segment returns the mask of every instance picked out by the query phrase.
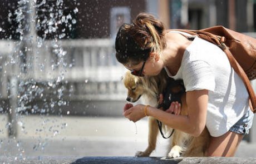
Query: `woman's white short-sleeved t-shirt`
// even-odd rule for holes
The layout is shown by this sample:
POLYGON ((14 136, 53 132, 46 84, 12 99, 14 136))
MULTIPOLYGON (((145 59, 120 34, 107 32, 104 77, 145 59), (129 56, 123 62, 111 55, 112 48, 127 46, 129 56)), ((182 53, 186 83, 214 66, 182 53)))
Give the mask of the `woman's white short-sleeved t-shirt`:
POLYGON ((185 49, 179 71, 186 91, 209 90, 206 127, 218 137, 228 132, 249 110, 249 96, 242 79, 230 66, 226 54, 215 44, 195 37, 185 49))

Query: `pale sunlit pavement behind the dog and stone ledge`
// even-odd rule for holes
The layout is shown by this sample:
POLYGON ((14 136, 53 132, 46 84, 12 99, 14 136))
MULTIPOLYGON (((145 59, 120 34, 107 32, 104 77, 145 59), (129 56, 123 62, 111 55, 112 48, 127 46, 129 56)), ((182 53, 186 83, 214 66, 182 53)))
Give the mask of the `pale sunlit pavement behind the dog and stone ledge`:
MULTIPOLYGON (((12 139, 7 138, 6 119, 0 116, 0 163, 8 159, 14 163, 24 160, 29 163, 29 159, 40 162, 45 158, 51 158, 52 163, 65 159, 85 161, 95 156, 99 160, 106 157, 105 161, 114 157, 142 160, 132 156, 147 146, 146 119, 135 124, 125 118, 111 117, 22 116, 18 121, 18 136, 12 139)), ((151 156, 165 156, 168 145, 168 140, 159 137, 151 156)), ((255 159, 255 152, 256 143, 242 141, 235 157, 255 159)))

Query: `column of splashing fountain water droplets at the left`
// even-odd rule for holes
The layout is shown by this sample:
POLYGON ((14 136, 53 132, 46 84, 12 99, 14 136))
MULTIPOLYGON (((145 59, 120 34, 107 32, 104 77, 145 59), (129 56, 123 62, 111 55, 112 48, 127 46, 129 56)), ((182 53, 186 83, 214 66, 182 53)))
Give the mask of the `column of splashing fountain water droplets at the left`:
MULTIPOLYGON (((11 40, 18 36, 14 40, 13 53, 7 56, 4 66, 1 66, 1 69, 2 67, 8 68, 8 71, 4 71, 4 76, 17 82, 17 85, 7 85, 8 98, 12 101, 8 112, 14 115, 11 115, 11 120, 6 123, 6 128, 13 128, 12 131, 16 131, 15 128, 20 128, 21 132, 26 135, 23 118, 37 114, 41 115, 43 120, 42 127, 38 127, 35 132, 40 135, 47 131, 47 124, 52 123, 45 116, 57 113, 62 117, 61 107, 67 106, 69 103, 65 95, 68 95, 66 94, 68 91, 72 92, 72 88, 67 90, 68 82, 65 75, 67 69, 72 67, 72 63, 67 63, 67 51, 62 47, 60 39, 68 38, 67 31, 72 31, 72 24, 77 23, 72 14, 76 14, 78 9, 75 8, 70 13, 64 13, 63 8, 65 8, 63 0, 53 1, 49 4, 46 3, 46 0, 40 2, 19 0, 15 11, 8 13, 8 22, 10 24, 14 21, 17 22, 16 31, 8 39, 11 40), (60 33, 58 33, 59 26, 65 27, 60 33), (48 38, 49 36, 52 38, 48 38), (47 49, 52 52, 53 56, 43 58, 43 53, 46 53, 47 49), (16 101, 17 105, 15 105, 16 101), (15 124, 17 127, 14 126, 15 124)), ((5 31, 0 28, 0 32, 5 31)), ((2 107, 0 107, 0 112, 3 112, 2 107)), ((69 115, 70 111, 65 114, 69 115)), ((52 135, 45 139, 40 137, 32 149, 34 151, 44 150, 47 146, 47 138, 57 136, 66 127, 67 123, 56 122, 55 125, 48 128, 52 135)), ((22 142, 16 138, 16 134, 12 135, 13 142, 16 143, 19 151, 18 158, 24 158, 26 151, 22 148, 22 142)), ((2 142, 1 140, 0 147, 2 142)))

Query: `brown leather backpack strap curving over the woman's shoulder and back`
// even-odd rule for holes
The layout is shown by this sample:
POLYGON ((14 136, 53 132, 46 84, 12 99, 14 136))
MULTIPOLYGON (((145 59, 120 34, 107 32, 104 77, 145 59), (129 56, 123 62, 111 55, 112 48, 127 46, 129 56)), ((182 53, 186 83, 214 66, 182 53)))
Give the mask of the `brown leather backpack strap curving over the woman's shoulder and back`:
POLYGON ((237 60, 234 58, 232 53, 229 51, 228 46, 225 45, 225 37, 217 36, 215 34, 212 34, 210 32, 205 31, 196 31, 196 30, 187 30, 187 29, 169 29, 167 32, 170 31, 181 31, 185 33, 189 33, 191 35, 197 35, 199 38, 204 39, 208 42, 211 42, 218 47, 220 47, 225 54, 227 54, 227 57, 229 59, 230 65, 233 67, 235 72, 242 78, 245 87, 247 88, 248 94, 249 94, 249 106, 250 109, 253 111, 253 113, 256 113, 256 96, 253 90, 252 85, 250 84, 250 80, 247 76, 247 74, 244 72, 244 69, 240 66, 240 64, 237 62, 237 60))

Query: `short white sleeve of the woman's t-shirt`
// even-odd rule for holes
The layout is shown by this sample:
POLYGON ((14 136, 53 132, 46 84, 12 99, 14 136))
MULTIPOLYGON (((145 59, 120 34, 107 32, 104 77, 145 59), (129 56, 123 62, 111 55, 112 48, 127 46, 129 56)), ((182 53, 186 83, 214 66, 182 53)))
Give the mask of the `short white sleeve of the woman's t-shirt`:
POLYGON ((205 61, 190 61, 183 68, 183 81, 186 91, 209 90, 214 92, 215 77, 213 68, 205 61))

